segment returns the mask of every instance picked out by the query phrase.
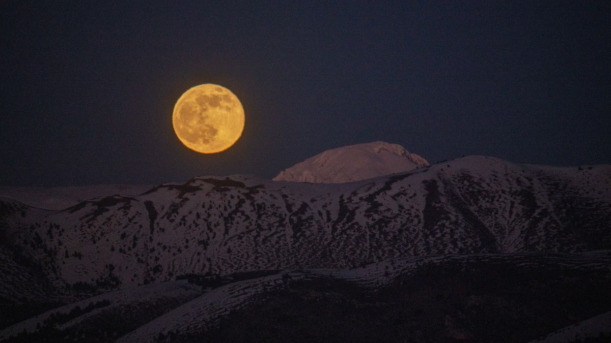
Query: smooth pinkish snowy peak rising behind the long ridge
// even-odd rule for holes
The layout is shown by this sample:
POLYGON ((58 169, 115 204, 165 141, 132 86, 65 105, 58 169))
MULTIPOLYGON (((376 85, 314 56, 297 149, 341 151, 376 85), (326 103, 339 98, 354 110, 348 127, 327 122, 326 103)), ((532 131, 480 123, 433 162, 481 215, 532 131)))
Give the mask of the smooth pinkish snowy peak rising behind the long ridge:
POLYGON ((324 151, 299 162, 274 181, 343 183, 427 167, 421 156, 398 144, 372 142, 324 151))

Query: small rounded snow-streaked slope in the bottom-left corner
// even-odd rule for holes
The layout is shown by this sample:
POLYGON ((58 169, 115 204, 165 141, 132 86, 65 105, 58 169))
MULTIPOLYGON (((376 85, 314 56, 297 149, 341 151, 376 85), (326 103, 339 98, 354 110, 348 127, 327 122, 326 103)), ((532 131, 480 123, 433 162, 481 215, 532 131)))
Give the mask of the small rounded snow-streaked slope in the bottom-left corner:
POLYGON ((181 281, 106 292, 5 328, 0 341, 112 342, 202 293, 201 287, 181 281))

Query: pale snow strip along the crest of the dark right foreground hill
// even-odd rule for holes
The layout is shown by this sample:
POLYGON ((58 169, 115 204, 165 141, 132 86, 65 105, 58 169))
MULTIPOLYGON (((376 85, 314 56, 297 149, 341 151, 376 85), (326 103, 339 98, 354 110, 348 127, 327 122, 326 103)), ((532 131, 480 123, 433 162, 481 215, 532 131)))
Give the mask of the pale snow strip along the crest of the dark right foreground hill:
MULTIPOLYGON (((453 262, 468 266, 473 263, 516 265, 529 269, 555 268, 567 270, 604 270, 611 276, 609 251, 594 251, 583 254, 537 254, 522 253, 510 255, 444 255, 426 257, 395 258, 364 267, 349 270, 306 269, 284 270, 276 275, 240 281, 213 289, 194 300, 166 312, 152 322, 131 331, 117 342, 154 342, 159 334, 170 332, 178 336, 196 334, 216 327, 224 316, 251 303, 266 301, 266 295, 290 287, 295 281, 343 280, 371 290, 389 286, 397 278, 409 278, 430 265, 444 265, 453 262), (562 266, 562 267, 559 267, 562 266)), ((610 318, 600 317, 596 323, 611 324, 610 318)), ((598 328, 598 327, 596 327, 598 328)), ((598 329, 597 329, 598 330, 598 329)))

